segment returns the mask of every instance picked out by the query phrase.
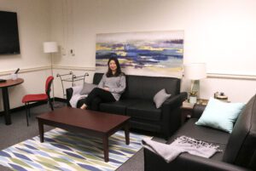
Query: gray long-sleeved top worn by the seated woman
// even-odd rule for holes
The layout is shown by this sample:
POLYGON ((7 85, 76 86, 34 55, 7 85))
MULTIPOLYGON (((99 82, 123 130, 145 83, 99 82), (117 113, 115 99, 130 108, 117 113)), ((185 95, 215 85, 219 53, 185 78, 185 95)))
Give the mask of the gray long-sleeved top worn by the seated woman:
POLYGON ((118 77, 107 77, 106 73, 103 75, 98 88, 109 88, 109 92, 113 95, 115 100, 119 100, 121 94, 125 91, 125 75, 120 74, 118 77))

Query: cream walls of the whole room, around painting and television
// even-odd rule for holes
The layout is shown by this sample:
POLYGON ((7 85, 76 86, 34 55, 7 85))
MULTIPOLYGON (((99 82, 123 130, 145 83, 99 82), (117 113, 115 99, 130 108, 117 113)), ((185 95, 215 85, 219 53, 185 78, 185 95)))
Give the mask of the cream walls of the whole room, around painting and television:
MULTIPOLYGON (((184 63, 206 62, 207 72, 254 76, 252 79, 208 77, 201 97, 224 91, 231 101, 246 102, 254 93, 256 44, 254 0, 0 0, 0 10, 18 13, 19 55, 0 56, 0 77, 20 67, 25 83, 10 88, 11 108, 22 105, 23 94, 39 93, 50 74, 49 54, 42 43, 57 41, 54 75, 95 68, 96 33, 184 30, 184 63), (65 3, 66 2, 66 3, 65 3), (74 54, 69 49, 74 49, 74 54), (22 71, 25 71, 22 73, 22 71), (242 89, 242 90, 241 90, 242 89)), ((229 77, 229 76, 228 76, 229 77)), ((68 87, 67 83, 67 87, 68 87)), ((183 80, 182 90, 189 89, 183 80)), ((2 94, 0 93, 2 96, 2 94)), ((55 96, 62 97, 55 77, 55 96)), ((3 111, 0 98, 0 111, 3 111)))

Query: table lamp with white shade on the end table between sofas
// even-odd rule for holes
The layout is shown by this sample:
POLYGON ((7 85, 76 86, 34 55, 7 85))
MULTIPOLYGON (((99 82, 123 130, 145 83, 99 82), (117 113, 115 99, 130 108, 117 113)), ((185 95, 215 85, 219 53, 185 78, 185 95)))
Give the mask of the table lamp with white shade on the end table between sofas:
POLYGON ((191 80, 189 103, 196 103, 197 97, 200 97, 199 80, 207 77, 206 68, 204 63, 184 64, 184 77, 191 80))

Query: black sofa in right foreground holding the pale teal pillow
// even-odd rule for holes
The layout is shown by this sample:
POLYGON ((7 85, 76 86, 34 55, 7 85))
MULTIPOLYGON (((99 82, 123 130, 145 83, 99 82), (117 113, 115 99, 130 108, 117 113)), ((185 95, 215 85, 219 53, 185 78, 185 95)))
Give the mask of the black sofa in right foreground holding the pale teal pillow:
POLYGON ((218 152, 211 158, 183 153, 174 161, 167 163, 144 148, 145 171, 256 170, 256 96, 254 95, 241 111, 231 134, 195 125, 204 108, 203 105, 195 105, 192 118, 172 135, 167 144, 181 135, 186 135, 195 140, 219 145, 224 152, 218 152))

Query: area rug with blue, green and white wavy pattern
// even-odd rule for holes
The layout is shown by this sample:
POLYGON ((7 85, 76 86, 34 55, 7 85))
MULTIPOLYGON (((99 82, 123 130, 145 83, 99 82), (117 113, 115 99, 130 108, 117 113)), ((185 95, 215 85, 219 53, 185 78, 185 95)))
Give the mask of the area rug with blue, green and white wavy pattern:
POLYGON ((0 164, 13 170, 115 170, 142 148, 147 136, 120 130, 109 137, 109 162, 104 162, 102 140, 86 134, 55 128, 44 133, 44 143, 36 136, 0 151, 0 164))

